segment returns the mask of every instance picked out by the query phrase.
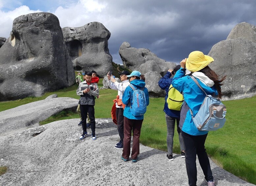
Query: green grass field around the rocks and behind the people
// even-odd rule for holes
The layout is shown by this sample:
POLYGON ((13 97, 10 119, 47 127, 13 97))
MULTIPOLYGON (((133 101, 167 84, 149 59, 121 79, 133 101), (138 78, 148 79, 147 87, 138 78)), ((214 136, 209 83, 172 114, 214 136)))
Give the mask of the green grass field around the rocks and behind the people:
MULTIPOLYGON (((100 79, 99 87, 102 87, 100 79)), ((77 85, 62 89, 58 97, 73 97, 78 99, 75 90, 77 85)), ((6 110, 18 105, 44 99, 42 97, 28 97, 16 101, 0 102, 1 109, 6 110)), ((95 117, 110 118, 113 99, 117 91, 100 89, 100 98, 96 99, 95 117)), ((206 150, 213 161, 230 173, 256 184, 256 96, 241 100, 223 101, 227 107, 226 123, 222 129, 209 132, 206 140, 206 150)), ((144 117, 141 129, 140 142, 143 145, 167 151, 166 121, 163 112, 164 98, 150 98, 150 105, 144 117)), ((43 121, 41 124, 55 120, 78 118, 76 113, 61 112, 56 116, 43 121)), ((178 133, 174 135, 174 153, 180 153, 178 133)))

